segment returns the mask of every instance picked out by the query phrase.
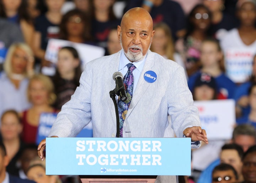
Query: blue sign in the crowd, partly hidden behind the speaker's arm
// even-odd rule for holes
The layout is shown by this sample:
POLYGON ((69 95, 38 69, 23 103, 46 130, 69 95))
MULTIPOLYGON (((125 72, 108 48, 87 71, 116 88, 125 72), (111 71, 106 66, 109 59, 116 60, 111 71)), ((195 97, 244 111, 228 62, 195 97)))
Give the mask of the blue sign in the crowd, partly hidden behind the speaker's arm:
MULTIPOLYGON (((36 143, 48 137, 50 129, 57 118, 57 113, 42 113, 39 118, 36 143)), ((92 137, 92 125, 85 126, 76 137, 92 137)))

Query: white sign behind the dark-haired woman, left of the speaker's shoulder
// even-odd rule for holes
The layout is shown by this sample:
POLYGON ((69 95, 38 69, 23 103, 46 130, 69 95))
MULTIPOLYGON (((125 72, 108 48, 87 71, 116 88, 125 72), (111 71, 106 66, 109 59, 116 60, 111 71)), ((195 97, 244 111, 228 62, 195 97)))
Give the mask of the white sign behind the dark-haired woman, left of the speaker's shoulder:
POLYGON ((79 57, 82 62, 81 64, 82 70, 84 68, 84 65, 87 62, 90 62, 93 59, 96 59, 105 55, 105 49, 99 46, 76 43, 76 42, 71 42, 71 41, 66 41, 61 39, 49 39, 47 48, 46 48, 45 59, 53 63, 56 63, 58 59, 59 48, 64 46, 72 46, 78 51, 79 57))

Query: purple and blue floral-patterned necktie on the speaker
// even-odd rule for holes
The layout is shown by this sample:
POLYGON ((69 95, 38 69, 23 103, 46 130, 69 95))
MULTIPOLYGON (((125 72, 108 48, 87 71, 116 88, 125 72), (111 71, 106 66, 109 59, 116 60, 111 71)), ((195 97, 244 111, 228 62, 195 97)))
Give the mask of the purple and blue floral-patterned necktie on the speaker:
POLYGON ((126 101, 121 101, 118 97, 117 107, 119 114, 119 124, 120 124, 120 137, 123 137, 123 122, 126 119, 126 114, 130 106, 130 101, 132 100, 133 93, 133 70, 136 68, 132 63, 127 64, 128 72, 124 76, 123 82, 126 89, 127 99, 126 101))

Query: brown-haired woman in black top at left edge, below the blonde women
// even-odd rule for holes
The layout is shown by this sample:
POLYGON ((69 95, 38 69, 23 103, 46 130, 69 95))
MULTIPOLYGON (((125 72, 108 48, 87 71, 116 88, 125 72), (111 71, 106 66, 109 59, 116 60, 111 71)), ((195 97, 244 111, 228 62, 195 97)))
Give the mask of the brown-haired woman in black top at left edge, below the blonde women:
POLYGON ((11 175, 19 176, 19 169, 16 164, 20 158, 24 143, 20 138, 22 125, 17 111, 7 110, 2 114, 0 132, 2 142, 5 145, 6 153, 10 160, 6 171, 11 175))

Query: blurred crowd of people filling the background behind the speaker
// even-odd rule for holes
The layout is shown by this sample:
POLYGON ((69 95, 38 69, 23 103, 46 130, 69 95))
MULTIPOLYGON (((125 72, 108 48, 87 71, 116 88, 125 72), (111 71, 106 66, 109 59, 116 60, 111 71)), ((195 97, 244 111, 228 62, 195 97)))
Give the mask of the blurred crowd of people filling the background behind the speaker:
MULTIPOLYGON (((0 158, 8 159, 4 171, 40 182, 45 175, 45 165, 37 162, 40 115, 57 114, 79 86, 81 52, 63 45, 54 63, 45 57, 48 41, 117 53, 122 49, 117 26, 133 7, 150 13, 155 30, 150 50, 183 67, 194 101, 235 101, 233 138, 223 139, 217 160, 180 182, 256 182, 256 0, 0 0, 0 158), (121 16, 117 9, 122 9, 121 16), (43 73, 45 67, 53 67, 54 74, 43 73)), ((79 180, 43 178, 52 183, 79 180)))

